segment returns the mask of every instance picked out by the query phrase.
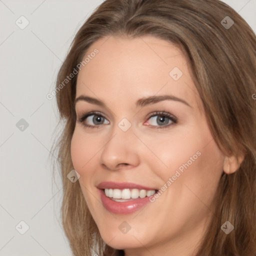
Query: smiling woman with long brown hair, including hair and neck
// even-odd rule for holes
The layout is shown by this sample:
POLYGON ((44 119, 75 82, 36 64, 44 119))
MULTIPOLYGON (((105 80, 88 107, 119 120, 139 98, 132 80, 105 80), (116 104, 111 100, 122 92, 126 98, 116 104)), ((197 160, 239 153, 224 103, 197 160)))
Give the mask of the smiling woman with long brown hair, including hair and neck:
POLYGON ((96 8, 56 82, 74 255, 255 256, 255 67, 219 0, 96 8))

